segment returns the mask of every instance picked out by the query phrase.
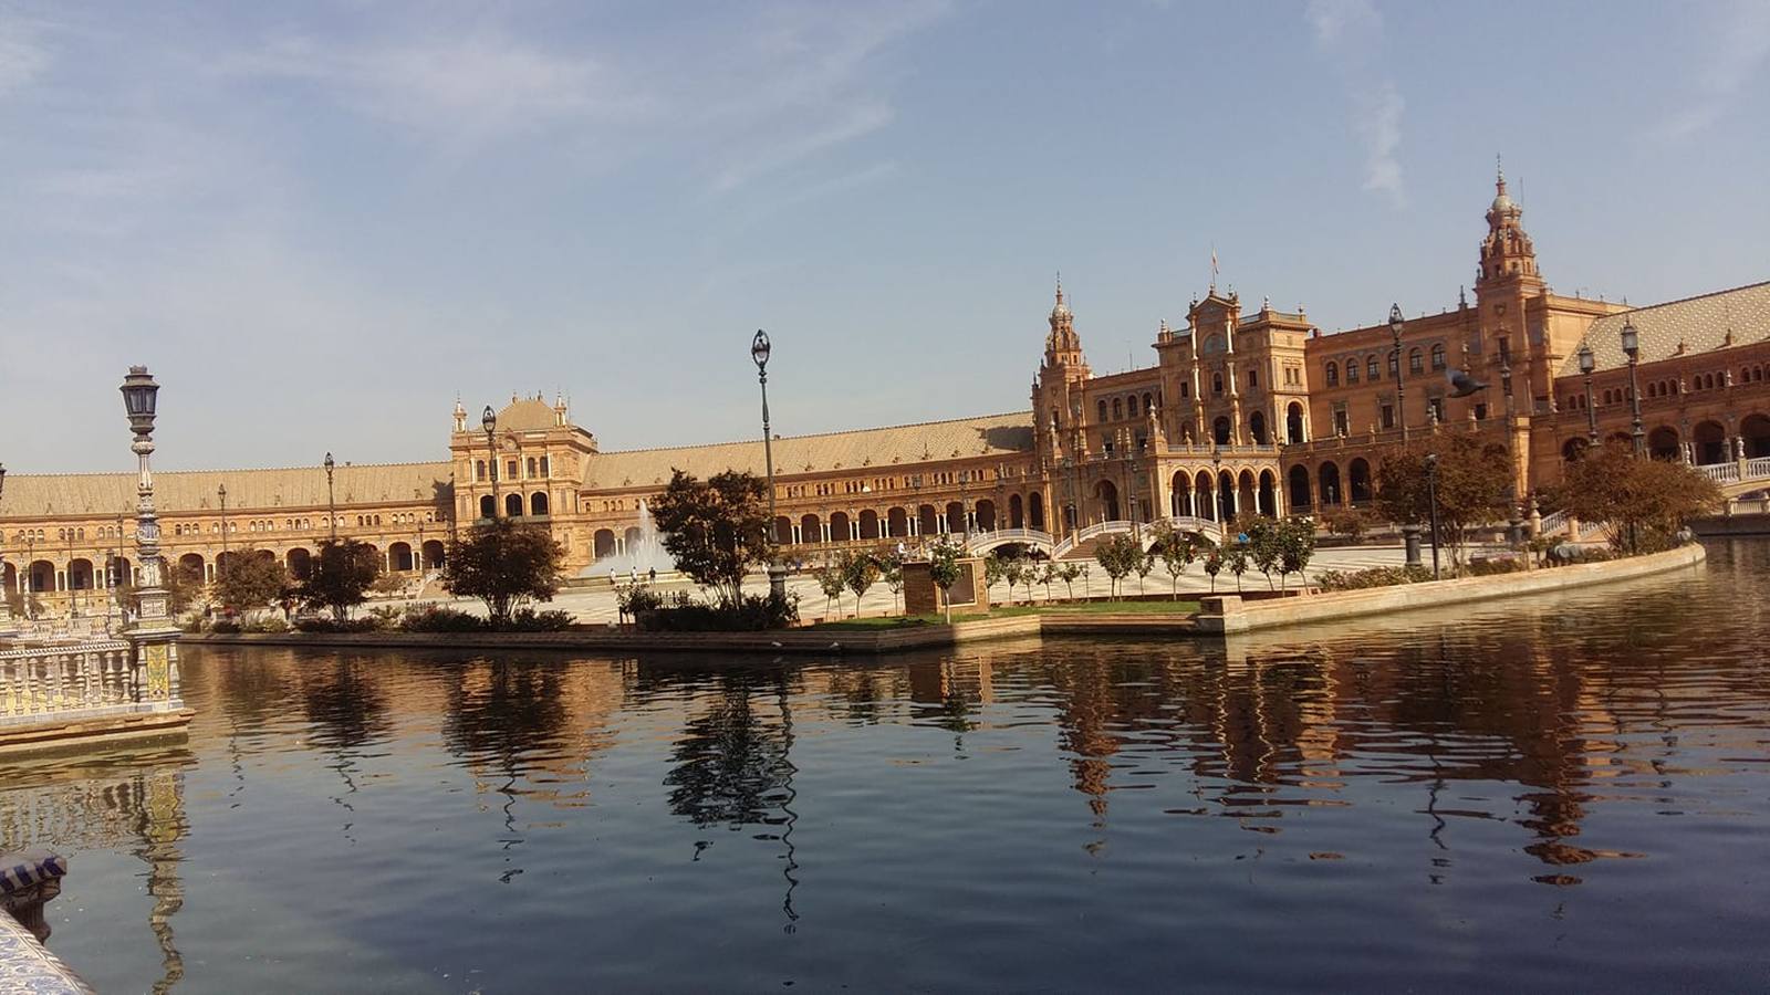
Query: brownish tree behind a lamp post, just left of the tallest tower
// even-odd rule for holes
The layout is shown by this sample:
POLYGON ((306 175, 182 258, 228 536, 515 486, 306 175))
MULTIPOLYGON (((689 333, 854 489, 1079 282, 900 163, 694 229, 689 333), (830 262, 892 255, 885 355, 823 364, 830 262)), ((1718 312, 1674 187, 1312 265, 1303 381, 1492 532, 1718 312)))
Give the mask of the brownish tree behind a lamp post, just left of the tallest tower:
POLYGON ((1397 524, 1432 521, 1427 455, 1437 455, 1439 542, 1462 563, 1464 533, 1504 519, 1512 508, 1512 455, 1503 443, 1469 432, 1439 432, 1382 457, 1377 466, 1377 510, 1397 524))

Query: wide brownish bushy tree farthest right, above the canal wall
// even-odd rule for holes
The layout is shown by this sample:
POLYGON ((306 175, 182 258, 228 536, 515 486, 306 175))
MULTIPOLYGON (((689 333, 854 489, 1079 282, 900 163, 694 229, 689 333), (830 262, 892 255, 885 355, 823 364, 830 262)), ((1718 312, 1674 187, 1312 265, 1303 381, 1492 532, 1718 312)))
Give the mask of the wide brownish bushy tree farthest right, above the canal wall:
POLYGON ((1724 499, 1696 467, 1604 444, 1563 467, 1549 503, 1582 522, 1607 524, 1611 547, 1634 554, 1671 547, 1685 521, 1720 510, 1724 499))

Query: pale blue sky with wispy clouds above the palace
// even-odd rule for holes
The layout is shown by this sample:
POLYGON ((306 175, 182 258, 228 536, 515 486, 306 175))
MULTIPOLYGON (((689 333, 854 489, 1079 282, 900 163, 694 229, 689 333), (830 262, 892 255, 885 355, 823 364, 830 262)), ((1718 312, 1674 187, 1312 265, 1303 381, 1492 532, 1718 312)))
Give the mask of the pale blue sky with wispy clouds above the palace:
POLYGON ((604 450, 1020 411, 1211 282, 1324 331, 1473 280, 1496 156, 1558 292, 1770 280, 1770 4, 0 0, 12 473, 604 450))

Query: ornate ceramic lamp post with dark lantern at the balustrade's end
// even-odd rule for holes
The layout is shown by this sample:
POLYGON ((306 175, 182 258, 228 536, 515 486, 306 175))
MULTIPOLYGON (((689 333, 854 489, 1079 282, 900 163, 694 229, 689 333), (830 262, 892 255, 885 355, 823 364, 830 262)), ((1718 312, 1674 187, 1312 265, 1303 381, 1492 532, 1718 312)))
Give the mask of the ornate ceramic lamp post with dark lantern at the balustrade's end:
POLYGON ((149 457, 154 453, 154 411, 159 384, 147 366, 129 366, 122 381, 122 405, 129 416, 129 430, 136 455, 135 540, 142 563, 142 586, 136 591, 140 611, 129 629, 133 644, 135 701, 152 710, 181 708, 179 696, 179 625, 172 618, 170 595, 165 588, 165 563, 159 556, 159 515, 154 513, 154 473, 149 457))

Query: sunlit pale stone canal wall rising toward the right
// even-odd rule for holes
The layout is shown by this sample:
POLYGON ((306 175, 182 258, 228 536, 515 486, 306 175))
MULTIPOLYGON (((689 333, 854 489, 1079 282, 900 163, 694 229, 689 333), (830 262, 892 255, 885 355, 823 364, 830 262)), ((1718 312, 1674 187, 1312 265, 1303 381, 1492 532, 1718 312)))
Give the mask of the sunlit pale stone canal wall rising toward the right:
POLYGON ((1703 563, 1706 558, 1708 552, 1703 545, 1692 542, 1666 552, 1650 552, 1646 556, 1630 556, 1627 559, 1575 563, 1570 567, 1551 567, 1526 574, 1494 574, 1490 577, 1393 584, 1386 588, 1368 588, 1363 591, 1335 591, 1274 602, 1246 604, 1235 595, 1216 595, 1204 598, 1204 607, 1200 609, 1197 621, 1200 634, 1230 636, 1235 632, 1340 621, 1347 618, 1389 614, 1409 609, 1444 607, 1519 595, 1563 591, 1568 588, 1611 584, 1618 581, 1632 581, 1635 577, 1651 577, 1653 574, 1666 574, 1671 570, 1683 570, 1703 563))

